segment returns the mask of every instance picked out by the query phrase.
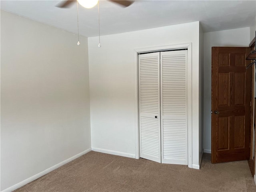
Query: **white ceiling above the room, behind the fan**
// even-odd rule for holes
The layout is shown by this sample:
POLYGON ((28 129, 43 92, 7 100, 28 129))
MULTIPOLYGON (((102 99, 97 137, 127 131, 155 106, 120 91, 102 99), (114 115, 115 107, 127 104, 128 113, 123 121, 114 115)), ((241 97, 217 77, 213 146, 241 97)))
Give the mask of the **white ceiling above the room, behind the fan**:
MULTIPOLYGON (((60 1, 1 0, 6 10, 77 33, 76 4, 71 8, 55 7, 60 1)), ((101 34, 116 34, 193 21, 202 23, 204 32, 242 28, 255 24, 256 1, 173 1, 136 0, 127 8, 100 1, 101 34)), ((98 35, 98 8, 79 7, 79 32, 91 37, 98 35)))

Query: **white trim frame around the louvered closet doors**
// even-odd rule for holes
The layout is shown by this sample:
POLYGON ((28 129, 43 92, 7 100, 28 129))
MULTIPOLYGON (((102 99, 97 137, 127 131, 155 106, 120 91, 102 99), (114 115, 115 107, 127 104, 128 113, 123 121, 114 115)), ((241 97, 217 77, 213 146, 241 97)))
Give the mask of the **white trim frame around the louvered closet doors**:
POLYGON ((140 124, 139 124, 139 80, 138 80, 138 54, 147 52, 161 52, 167 50, 188 49, 188 167, 192 168, 192 43, 154 46, 134 49, 135 71, 135 158, 140 158, 140 124))

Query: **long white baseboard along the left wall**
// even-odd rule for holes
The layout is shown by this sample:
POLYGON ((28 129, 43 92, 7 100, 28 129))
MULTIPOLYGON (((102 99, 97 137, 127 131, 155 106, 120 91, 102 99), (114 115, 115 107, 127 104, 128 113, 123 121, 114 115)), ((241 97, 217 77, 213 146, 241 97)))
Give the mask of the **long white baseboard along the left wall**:
POLYGON ((91 151, 91 149, 87 149, 87 150, 85 150, 85 151, 83 151, 83 152, 81 152, 79 154, 76 154, 75 156, 72 156, 72 157, 70 157, 70 158, 68 158, 68 159, 66 159, 66 160, 64 160, 64 161, 62 161, 62 162, 60 162, 60 163, 58 163, 58 164, 56 164, 56 165, 54 165, 54 166, 52 166, 52 167, 42 171, 42 172, 32 176, 32 177, 30 177, 30 178, 27 178, 27 179, 23 180, 22 182, 19 182, 19 183, 15 184, 15 185, 13 185, 13 186, 3 190, 2 192, 11 192, 13 190, 16 190, 16 189, 18 189, 18 188, 20 188, 20 187, 22 187, 22 186, 24 186, 24 185, 26 185, 26 184, 36 180, 36 179, 44 176, 45 174, 47 174, 47 173, 49 173, 49 172, 59 168, 60 166, 62 166, 64 164, 67 164, 68 162, 70 162, 70 161, 72 161, 72 160, 74 160, 74 159, 76 159, 76 158, 78 158, 78 157, 80 157, 80 156, 90 152, 90 151, 91 151))

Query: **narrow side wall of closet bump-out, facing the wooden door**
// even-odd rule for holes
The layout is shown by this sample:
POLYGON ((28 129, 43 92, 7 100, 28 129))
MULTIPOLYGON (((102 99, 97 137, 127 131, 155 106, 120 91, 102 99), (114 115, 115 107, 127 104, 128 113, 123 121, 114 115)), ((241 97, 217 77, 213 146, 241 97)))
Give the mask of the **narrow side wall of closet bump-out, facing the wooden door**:
POLYGON ((204 31, 201 24, 199 27, 199 161, 201 161, 204 142, 204 31))

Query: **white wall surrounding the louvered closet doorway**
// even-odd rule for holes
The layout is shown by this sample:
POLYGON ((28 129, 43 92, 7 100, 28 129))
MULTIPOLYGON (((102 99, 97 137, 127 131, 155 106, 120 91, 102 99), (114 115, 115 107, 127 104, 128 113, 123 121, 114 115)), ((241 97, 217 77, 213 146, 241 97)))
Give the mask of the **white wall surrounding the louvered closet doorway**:
MULTIPOLYGON (((135 157, 134 49, 192 42, 192 163, 199 165, 199 22, 88 38, 92 150, 135 157)), ((199 166, 198 166, 199 167, 199 166)))

